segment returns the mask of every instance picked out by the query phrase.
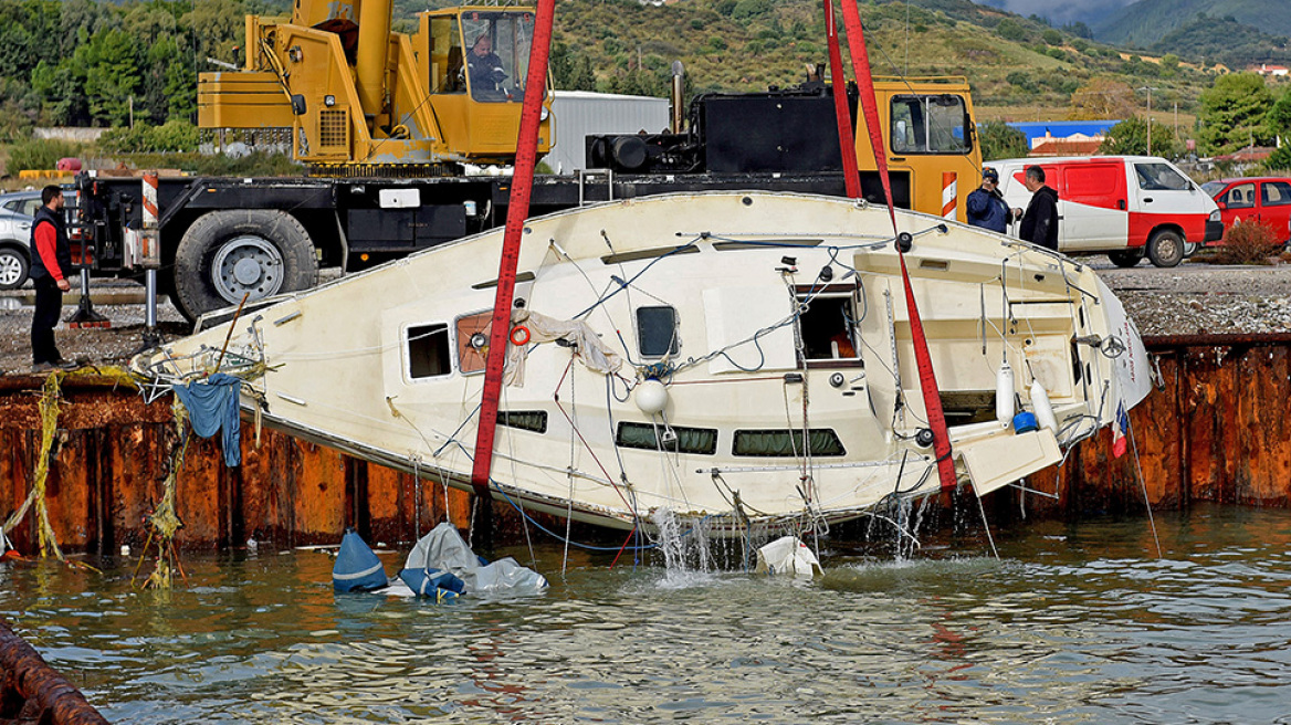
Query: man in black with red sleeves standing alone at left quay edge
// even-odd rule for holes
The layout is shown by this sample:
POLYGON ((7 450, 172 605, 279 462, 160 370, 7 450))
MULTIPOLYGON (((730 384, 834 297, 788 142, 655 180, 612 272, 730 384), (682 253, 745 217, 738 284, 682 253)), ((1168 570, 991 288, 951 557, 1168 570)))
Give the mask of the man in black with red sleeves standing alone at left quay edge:
POLYGON ((54 326, 63 308, 63 293, 72 288, 72 250, 63 222, 63 190, 50 184, 40 192, 43 206, 31 224, 31 281, 36 288, 36 312, 31 316, 31 370, 70 370, 54 344, 54 326))

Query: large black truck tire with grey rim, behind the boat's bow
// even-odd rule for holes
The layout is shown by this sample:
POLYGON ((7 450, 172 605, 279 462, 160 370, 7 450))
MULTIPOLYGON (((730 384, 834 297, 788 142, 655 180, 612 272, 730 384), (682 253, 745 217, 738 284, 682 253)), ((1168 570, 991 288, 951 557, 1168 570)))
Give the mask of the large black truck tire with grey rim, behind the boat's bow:
POLYGON ((210 212, 179 240, 176 307, 188 320, 247 301, 314 286, 318 255, 294 217, 276 209, 210 212))

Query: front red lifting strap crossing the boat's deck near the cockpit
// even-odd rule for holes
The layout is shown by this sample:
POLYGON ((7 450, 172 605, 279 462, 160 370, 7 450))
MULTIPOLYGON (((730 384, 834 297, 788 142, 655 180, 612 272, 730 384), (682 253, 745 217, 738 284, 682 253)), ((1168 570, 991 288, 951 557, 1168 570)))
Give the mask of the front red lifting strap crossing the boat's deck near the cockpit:
MULTIPOLYGON (((856 81, 861 90, 861 110, 865 114, 865 126, 870 134, 870 147, 874 150, 874 163, 879 170, 879 179, 883 182, 883 194, 888 200, 888 218, 892 219, 892 233, 899 233, 896 227, 896 205, 892 203, 892 182, 888 181, 887 152, 883 146, 883 129, 879 125, 878 103, 874 98, 874 79, 870 75, 870 57, 865 48, 865 31, 861 27, 861 12, 856 6, 856 0, 842 0, 843 22, 847 26, 847 45, 852 54, 852 68, 856 70, 856 81)), ((829 18, 825 27, 833 25, 829 18)), ((855 151, 852 152, 855 156, 855 151)), ((844 159, 847 154, 843 155, 844 159)), ((846 160, 844 160, 846 165, 846 160)), ((941 393, 937 387, 937 375, 932 370, 932 356, 928 353, 928 338, 923 334, 923 323, 919 320, 919 308, 914 302, 914 288, 910 285, 910 272, 905 267, 905 254, 897 246, 897 255, 901 259, 901 281, 905 285, 905 306, 910 317, 910 337, 914 342, 914 360, 919 369, 919 387, 923 391, 923 406, 928 414, 928 427, 932 430, 932 452, 937 455, 937 473, 941 477, 942 490, 955 488, 955 466, 950 461, 950 433, 946 431, 946 417, 941 410, 941 393)))

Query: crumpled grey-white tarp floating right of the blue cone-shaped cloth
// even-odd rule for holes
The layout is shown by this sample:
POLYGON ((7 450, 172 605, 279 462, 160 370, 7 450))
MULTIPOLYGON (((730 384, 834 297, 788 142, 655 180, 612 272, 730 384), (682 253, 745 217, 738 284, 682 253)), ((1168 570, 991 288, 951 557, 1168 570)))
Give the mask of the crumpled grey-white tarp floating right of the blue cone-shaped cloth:
POLYGON ((542 574, 520 566, 510 556, 483 564, 457 533, 457 526, 447 521, 431 529, 412 547, 404 569, 448 571, 466 584, 463 593, 467 595, 529 593, 547 586, 542 574))

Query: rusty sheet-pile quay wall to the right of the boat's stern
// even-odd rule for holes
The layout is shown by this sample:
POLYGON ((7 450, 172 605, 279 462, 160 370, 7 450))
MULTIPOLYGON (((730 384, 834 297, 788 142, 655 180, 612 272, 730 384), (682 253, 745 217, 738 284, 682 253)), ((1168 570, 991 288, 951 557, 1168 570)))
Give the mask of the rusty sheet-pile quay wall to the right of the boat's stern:
POLYGON ((1032 477, 1032 486, 1060 498, 1029 497, 1029 513, 1141 511, 1144 488, 1154 508, 1291 506, 1291 335, 1144 342, 1155 355, 1161 386, 1130 412, 1130 453, 1115 458, 1112 431, 1104 428, 1061 468, 1032 477))

